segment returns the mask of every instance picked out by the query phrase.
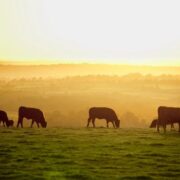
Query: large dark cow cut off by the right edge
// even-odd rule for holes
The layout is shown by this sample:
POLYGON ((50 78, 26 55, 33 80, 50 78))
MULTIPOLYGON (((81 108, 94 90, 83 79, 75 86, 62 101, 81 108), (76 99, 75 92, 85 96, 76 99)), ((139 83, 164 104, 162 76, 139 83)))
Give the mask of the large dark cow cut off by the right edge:
POLYGON ((179 124, 180 132, 180 108, 160 106, 158 108, 157 131, 159 132, 159 126, 162 126, 166 132, 166 125, 174 123, 179 124))

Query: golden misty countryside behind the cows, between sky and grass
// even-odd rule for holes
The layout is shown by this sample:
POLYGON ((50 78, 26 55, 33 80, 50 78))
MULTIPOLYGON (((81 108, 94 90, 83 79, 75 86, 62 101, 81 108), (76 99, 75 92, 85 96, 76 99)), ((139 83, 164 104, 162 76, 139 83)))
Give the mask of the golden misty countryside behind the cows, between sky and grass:
MULTIPOLYGON (((103 106, 115 110, 122 128, 149 127, 158 106, 179 106, 178 70, 89 64, 1 65, 0 107, 15 123, 23 105, 40 108, 49 127, 85 127, 89 108, 103 106)), ((24 123, 30 126, 30 121, 24 123)), ((106 123, 96 120, 96 125, 106 123)))

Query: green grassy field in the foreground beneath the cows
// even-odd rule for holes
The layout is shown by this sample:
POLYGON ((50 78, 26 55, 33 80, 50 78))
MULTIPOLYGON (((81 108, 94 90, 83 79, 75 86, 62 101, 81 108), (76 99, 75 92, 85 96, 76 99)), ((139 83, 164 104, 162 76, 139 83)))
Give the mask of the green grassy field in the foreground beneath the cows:
POLYGON ((180 134, 0 127, 0 179, 179 179, 180 134))

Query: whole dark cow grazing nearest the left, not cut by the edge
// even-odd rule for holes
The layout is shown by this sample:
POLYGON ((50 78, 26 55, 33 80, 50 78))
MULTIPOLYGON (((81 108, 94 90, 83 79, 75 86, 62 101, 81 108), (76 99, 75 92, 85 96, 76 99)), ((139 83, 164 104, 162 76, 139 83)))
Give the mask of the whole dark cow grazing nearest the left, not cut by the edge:
POLYGON ((31 127, 33 126, 34 122, 36 122, 38 128, 39 124, 41 124, 43 128, 46 128, 47 126, 47 122, 45 121, 43 112, 40 109, 21 106, 19 108, 17 127, 19 127, 19 124, 21 125, 21 127, 23 127, 23 118, 32 119, 31 127))

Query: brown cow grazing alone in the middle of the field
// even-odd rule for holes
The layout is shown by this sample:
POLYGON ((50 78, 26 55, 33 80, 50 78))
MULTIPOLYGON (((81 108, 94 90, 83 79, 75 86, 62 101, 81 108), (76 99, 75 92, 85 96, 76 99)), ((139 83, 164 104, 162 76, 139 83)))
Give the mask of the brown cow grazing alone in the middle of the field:
POLYGON ((106 119, 107 127, 109 127, 109 122, 111 122, 114 128, 119 128, 120 120, 117 118, 116 113, 113 109, 107 107, 92 107, 89 109, 89 118, 87 127, 92 121, 93 127, 95 127, 95 119, 106 119))

